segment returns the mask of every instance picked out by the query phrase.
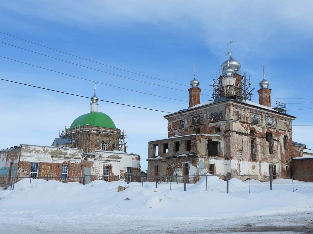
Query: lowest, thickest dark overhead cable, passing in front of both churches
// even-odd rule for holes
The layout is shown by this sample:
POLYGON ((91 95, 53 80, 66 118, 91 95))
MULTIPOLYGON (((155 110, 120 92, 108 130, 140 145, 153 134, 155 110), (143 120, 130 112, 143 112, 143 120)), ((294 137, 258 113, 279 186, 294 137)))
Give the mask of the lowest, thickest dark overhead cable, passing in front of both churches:
MULTIPOLYGON (((53 90, 53 89, 48 89, 48 88, 43 88, 43 87, 40 87, 40 86, 35 86, 35 85, 29 85, 29 84, 24 84, 24 83, 21 83, 21 82, 17 82, 17 81, 13 81, 13 80, 6 80, 6 79, 1 79, 0 80, 4 80, 4 81, 8 81, 8 82, 12 82, 12 83, 15 83, 15 84, 20 84, 20 85, 26 85, 26 86, 29 86, 29 87, 34 87, 34 88, 39 88, 39 89, 43 89, 43 90, 49 90, 49 91, 53 91, 53 92, 58 92, 58 93, 63 93, 63 94, 68 94, 68 95, 73 95, 73 96, 77 96, 77 97, 83 97, 83 98, 88 98, 90 99, 90 97, 86 97, 86 96, 82 96, 82 95, 78 95, 78 94, 72 94, 72 93, 68 93, 68 92, 62 92, 62 91, 59 91, 59 90, 53 90)), ((162 112, 162 113, 169 113, 169 114, 178 114, 178 115, 184 115, 184 116, 187 116, 187 117, 191 117, 191 115, 186 115, 186 114, 180 114, 180 113, 172 113, 172 112, 169 112, 169 111, 163 111, 163 110, 156 110, 156 109, 151 109, 151 108, 145 108, 145 107, 140 107, 140 106, 135 106, 135 105, 127 105, 127 104, 122 104, 122 103, 118 103, 118 102, 112 102, 112 101, 107 101, 107 100, 102 100, 102 99, 99 99, 99 101, 104 101, 104 102, 109 102, 109 103, 113 103, 113 104, 118 104, 118 105, 125 105, 125 106, 130 106, 130 107, 135 107, 135 108, 140 108, 140 109, 145 109, 145 110, 153 110, 153 111, 158 111, 158 112, 162 112)), ((313 109, 313 108, 312 108, 313 109)), ((202 119, 209 119, 208 117, 200 117, 202 119)), ((229 121, 229 122, 236 122, 238 123, 238 121, 235 121, 235 120, 224 120, 224 121, 229 121)), ((249 123, 249 122, 245 122, 247 124, 254 124, 254 123, 249 123)), ((264 124, 259 124, 259 125, 264 125, 264 124)), ((283 126, 286 126, 285 124, 274 124, 276 126, 280 126, 280 125, 283 125, 283 126)), ((289 125, 288 125, 289 126, 289 125)), ((293 126, 313 126, 313 124, 295 124, 293 126)))

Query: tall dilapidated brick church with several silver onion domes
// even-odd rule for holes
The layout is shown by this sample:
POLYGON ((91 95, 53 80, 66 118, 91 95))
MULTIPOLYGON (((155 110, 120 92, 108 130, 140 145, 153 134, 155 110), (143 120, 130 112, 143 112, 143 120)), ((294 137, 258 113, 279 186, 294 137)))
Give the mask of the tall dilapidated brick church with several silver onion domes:
MULTIPOLYGON (((259 82, 259 103, 250 100, 249 79, 230 56, 213 79, 213 100, 200 102, 200 82, 190 82, 189 107, 164 116, 166 139, 148 142, 148 176, 235 174, 290 175, 291 160, 305 145, 292 141, 292 120, 285 105, 271 106, 269 81, 259 82)), ((192 182, 190 176, 187 181, 192 182)), ((264 177, 266 180, 266 177, 264 177)))

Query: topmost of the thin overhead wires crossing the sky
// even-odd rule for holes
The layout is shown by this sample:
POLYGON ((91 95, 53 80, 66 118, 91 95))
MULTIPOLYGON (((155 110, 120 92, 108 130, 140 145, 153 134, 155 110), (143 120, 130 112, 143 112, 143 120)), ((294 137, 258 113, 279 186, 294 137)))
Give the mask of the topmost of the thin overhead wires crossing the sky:
MULTIPOLYGON (((54 50, 54 51, 57 51, 57 52, 60 52, 60 53, 63 53, 63 54, 74 56, 76 58, 84 59, 86 61, 90 61, 90 62, 94 62, 94 63, 100 64, 100 65, 104 65, 104 66, 107 66, 107 67, 111 67, 111 68, 114 68, 114 69, 117 69, 117 70, 126 71, 126 72, 129 72, 129 73, 135 74, 135 75, 144 76, 144 77, 148 77, 148 78, 155 79, 155 80, 161 80, 161 81, 164 81, 164 82, 168 82, 168 83, 172 83, 172 84, 176 84, 176 85, 182 85, 182 86, 189 87, 189 85, 184 85, 184 84, 180 84, 180 83, 176 83, 176 82, 172 82, 172 81, 168 81, 168 80, 162 80, 162 79, 158 79, 158 78, 155 78, 155 77, 152 77, 152 76, 146 76, 146 75, 143 75, 143 74, 140 74, 140 73, 128 71, 128 70, 125 70, 125 69, 121 69, 121 68, 118 68, 118 67, 114 67, 114 66, 110 66, 110 65, 107 65, 107 64, 104 64, 104 63, 100 63, 100 62, 97 62, 97 61, 94 61, 94 60, 86 59, 86 58, 83 58, 83 57, 80 57, 80 56, 77 56, 77 55, 74 55, 74 54, 70 54, 70 53, 67 53, 67 52, 64 52, 64 51, 60 51, 60 50, 57 50, 57 49, 54 49, 54 48, 51 48, 51 47, 48 47, 48 46, 44 46, 44 45, 38 44, 38 43, 33 42, 33 41, 25 40, 23 38, 13 36, 13 35, 10 35, 10 34, 5 33, 5 32, 0 32, 0 33, 5 34, 5 35, 10 36, 10 37, 17 38, 17 39, 22 40, 22 41, 27 41, 27 42, 32 43, 32 44, 37 45, 37 46, 42 46, 42 47, 50 49, 50 50, 54 50)), ((208 90, 208 89, 202 89, 202 90, 208 90)), ((208 91, 212 91, 212 90, 208 90, 208 91)))

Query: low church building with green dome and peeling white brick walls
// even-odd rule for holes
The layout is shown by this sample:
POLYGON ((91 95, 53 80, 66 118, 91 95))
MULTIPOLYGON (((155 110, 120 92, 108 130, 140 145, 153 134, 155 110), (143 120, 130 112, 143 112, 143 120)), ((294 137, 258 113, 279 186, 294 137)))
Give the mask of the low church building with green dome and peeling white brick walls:
POLYGON ((113 120, 98 112, 91 97, 90 113, 76 118, 52 146, 21 144, 0 151, 0 186, 13 178, 31 177, 64 182, 140 181, 140 156, 126 152, 126 136, 113 120))

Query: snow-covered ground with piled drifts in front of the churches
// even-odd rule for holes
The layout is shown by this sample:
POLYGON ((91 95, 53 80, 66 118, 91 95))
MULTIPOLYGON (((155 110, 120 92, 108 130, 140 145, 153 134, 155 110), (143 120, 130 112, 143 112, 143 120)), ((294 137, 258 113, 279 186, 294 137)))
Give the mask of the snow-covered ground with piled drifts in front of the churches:
POLYGON ((289 179, 275 180, 273 191, 250 180, 249 193, 247 181, 233 178, 227 194, 215 176, 187 184, 186 192, 181 183, 29 186, 26 178, 0 190, 0 233, 313 233, 313 183, 294 181, 294 189, 289 179))

